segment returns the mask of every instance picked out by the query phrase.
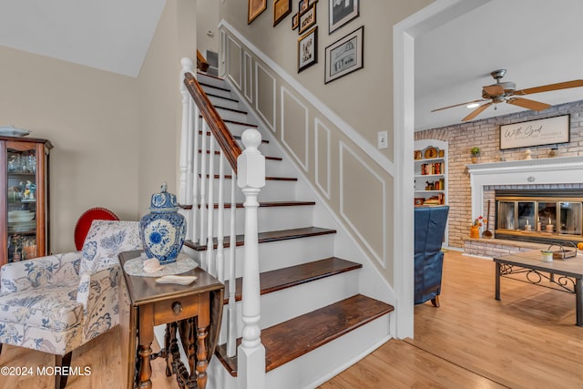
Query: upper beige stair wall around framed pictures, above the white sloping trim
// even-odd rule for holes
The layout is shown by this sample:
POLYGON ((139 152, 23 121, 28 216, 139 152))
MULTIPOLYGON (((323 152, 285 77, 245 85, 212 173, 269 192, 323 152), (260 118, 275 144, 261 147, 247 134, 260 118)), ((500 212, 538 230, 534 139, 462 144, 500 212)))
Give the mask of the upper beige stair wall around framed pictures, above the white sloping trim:
POLYGON ((297 73, 298 30, 292 30, 292 15, 298 2, 292 2, 292 14, 273 27, 273 2, 251 25, 247 25, 247 2, 226 0, 220 16, 271 57, 304 87, 324 101, 371 144, 376 145, 377 131, 389 131, 389 148, 383 153, 393 158, 393 26, 408 15, 429 5, 431 0, 365 0, 360 15, 352 22, 328 34, 328 0, 316 4, 318 26, 318 64, 297 73), (364 26, 363 70, 324 85, 324 50, 338 39, 364 26))

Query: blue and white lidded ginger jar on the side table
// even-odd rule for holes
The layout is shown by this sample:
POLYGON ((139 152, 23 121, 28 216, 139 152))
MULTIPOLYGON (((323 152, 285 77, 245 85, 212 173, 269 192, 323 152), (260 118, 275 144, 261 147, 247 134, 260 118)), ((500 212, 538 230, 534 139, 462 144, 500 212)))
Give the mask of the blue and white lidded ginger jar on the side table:
POLYGON ((148 258, 157 258, 166 265, 176 261, 184 237, 186 220, 178 212, 176 196, 167 191, 164 183, 150 201, 150 212, 139 220, 139 236, 148 258))

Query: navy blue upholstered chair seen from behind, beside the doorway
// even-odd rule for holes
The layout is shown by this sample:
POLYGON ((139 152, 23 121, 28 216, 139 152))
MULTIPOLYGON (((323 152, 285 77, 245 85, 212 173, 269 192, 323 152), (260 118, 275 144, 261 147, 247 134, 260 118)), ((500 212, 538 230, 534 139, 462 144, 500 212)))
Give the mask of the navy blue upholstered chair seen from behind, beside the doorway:
POLYGON ((428 300, 439 307, 444 253, 445 224, 449 206, 415 207, 414 303, 428 300))

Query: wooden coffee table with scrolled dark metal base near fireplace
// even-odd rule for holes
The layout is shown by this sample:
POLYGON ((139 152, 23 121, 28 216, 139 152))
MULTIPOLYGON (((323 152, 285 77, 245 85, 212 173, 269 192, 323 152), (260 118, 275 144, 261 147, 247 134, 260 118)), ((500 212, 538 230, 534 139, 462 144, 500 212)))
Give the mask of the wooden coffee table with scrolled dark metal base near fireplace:
POLYGON ((524 251, 495 257, 496 300, 500 300, 500 278, 507 277, 560 292, 575 294, 577 325, 583 326, 583 259, 542 261, 540 251, 524 251))

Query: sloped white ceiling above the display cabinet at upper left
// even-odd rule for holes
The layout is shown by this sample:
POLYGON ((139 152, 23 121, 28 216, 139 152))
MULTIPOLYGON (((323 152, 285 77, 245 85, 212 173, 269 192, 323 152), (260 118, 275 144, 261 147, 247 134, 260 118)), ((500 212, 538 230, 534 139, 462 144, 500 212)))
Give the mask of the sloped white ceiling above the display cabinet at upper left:
POLYGON ((166 0, 0 0, 0 46, 137 77, 166 0))

